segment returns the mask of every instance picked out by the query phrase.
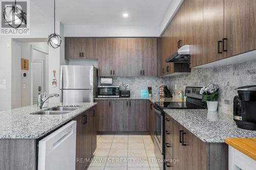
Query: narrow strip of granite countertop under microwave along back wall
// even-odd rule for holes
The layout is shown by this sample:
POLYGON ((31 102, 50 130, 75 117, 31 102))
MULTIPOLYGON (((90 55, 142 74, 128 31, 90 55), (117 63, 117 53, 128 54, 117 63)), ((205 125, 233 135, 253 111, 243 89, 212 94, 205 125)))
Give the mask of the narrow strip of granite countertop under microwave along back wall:
POLYGON ((95 98, 95 100, 150 100, 155 102, 179 102, 178 98, 160 98, 160 96, 153 96, 148 98, 141 98, 140 96, 131 96, 130 98, 95 98))

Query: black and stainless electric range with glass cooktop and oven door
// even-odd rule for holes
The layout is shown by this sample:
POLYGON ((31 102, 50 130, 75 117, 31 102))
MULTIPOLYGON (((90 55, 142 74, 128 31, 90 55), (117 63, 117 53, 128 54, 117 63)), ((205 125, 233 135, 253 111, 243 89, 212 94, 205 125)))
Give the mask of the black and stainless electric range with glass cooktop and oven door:
MULTIPOLYGON (((153 110, 155 112, 154 145, 155 154, 158 160, 165 159, 164 156, 164 111, 163 109, 205 109, 206 102, 202 102, 200 90, 202 87, 186 87, 186 102, 155 102, 153 110)), ((164 163, 159 162, 161 170, 164 163)))

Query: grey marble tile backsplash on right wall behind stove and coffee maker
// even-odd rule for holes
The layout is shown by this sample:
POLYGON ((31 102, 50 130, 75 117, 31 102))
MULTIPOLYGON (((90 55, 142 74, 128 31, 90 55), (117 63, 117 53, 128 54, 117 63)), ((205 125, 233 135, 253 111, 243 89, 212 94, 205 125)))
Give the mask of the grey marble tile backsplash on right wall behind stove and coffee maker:
POLYGON ((206 86, 216 83, 219 89, 219 110, 232 114, 233 98, 237 87, 256 84, 256 61, 217 68, 192 68, 190 74, 170 77, 170 89, 174 95, 186 86, 206 86), (177 88, 175 89, 175 85, 177 88))

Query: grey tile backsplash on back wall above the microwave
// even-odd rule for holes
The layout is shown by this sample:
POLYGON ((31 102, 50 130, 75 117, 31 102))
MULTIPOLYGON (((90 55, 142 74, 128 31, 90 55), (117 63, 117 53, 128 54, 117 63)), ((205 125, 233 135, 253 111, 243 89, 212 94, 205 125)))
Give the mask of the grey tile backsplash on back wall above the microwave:
POLYGON ((130 86, 127 90, 131 90, 132 97, 139 97, 140 90, 147 89, 148 86, 152 87, 153 96, 159 96, 159 86, 166 85, 169 88, 170 79, 161 77, 113 77, 113 86, 120 86, 120 89, 123 90, 126 84, 130 86))

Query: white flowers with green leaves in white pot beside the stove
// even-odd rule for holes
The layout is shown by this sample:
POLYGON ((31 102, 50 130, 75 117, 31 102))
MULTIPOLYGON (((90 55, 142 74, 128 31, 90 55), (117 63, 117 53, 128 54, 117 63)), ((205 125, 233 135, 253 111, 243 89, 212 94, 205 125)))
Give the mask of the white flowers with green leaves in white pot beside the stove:
POLYGON ((218 108, 218 98, 219 98, 219 86, 217 84, 209 84, 204 86, 200 90, 200 94, 203 95, 202 101, 207 103, 207 108, 209 111, 217 111, 218 108))

